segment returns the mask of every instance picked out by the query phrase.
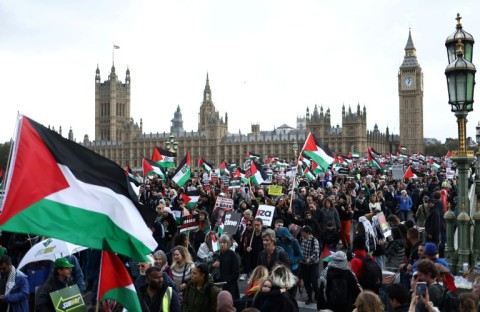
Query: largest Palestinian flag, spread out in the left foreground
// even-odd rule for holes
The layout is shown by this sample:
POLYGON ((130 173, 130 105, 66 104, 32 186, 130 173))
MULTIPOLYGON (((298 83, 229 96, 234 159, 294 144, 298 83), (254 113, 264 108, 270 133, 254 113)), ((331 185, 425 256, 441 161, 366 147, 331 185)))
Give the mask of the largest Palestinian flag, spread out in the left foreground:
POLYGON ((0 229, 37 234, 144 261, 156 212, 138 203, 114 162, 20 116, 0 229), (147 224, 146 224, 147 223, 147 224))

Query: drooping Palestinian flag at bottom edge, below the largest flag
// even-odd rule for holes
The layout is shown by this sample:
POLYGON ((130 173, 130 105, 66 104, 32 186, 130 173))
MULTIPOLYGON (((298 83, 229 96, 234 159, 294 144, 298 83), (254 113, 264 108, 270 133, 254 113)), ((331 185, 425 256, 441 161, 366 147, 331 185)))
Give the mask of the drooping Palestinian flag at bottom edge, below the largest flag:
POLYGON ((142 311, 135 286, 123 262, 114 253, 102 252, 97 300, 115 300, 127 311, 142 311))

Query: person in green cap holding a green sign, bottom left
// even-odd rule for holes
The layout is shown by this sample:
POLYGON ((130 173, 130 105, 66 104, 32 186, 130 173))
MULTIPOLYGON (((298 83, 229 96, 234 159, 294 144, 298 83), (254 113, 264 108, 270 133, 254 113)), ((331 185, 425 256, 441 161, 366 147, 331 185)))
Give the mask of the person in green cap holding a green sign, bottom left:
POLYGON ((40 286, 37 292, 35 302, 35 311, 50 312, 56 311, 50 298, 50 293, 71 286, 70 276, 72 275, 73 264, 68 262, 67 258, 55 260, 53 273, 40 286))

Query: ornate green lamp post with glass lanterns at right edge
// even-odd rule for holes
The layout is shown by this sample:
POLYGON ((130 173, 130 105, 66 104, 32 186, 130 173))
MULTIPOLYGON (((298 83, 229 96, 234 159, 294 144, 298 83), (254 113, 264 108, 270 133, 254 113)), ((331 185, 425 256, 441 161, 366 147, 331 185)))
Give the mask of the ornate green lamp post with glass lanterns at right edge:
MULTIPOLYGON (((460 16, 457 15, 457 32, 459 30, 460 16)), ((460 24, 461 29, 461 24, 460 24)), ((470 35, 471 37, 471 35, 470 35)), ((471 37, 471 46, 469 47, 471 53, 473 51, 473 37, 471 37)), ((470 206, 468 200, 468 165, 473 160, 474 154, 472 151, 467 151, 466 145, 466 124, 467 115, 473 110, 473 90, 475 87, 475 66, 465 59, 464 49, 465 45, 461 39, 458 39, 455 44, 456 58, 453 59, 451 51, 454 41, 451 40, 451 36, 447 38, 445 43, 447 47, 447 53, 449 56, 450 64, 445 69, 445 75, 447 76, 448 85, 448 103, 451 105, 452 112, 455 113, 458 124, 458 141, 459 149, 452 152, 452 160, 457 163, 458 169, 458 204, 460 205, 460 213, 457 217, 458 220, 458 262, 454 261, 455 257, 452 252, 453 246, 448 246, 446 250, 447 261, 453 264, 454 273, 456 269, 462 268, 463 263, 471 263, 470 261, 470 206), (453 59, 453 60, 452 60, 453 59), (455 263, 457 262, 457 267, 455 263)), ((447 212, 445 214, 447 220, 447 226, 452 226, 451 214, 447 212)), ((452 234, 452 230, 447 229, 448 234, 452 234)), ((450 238, 450 243, 452 242, 450 238)))

